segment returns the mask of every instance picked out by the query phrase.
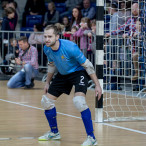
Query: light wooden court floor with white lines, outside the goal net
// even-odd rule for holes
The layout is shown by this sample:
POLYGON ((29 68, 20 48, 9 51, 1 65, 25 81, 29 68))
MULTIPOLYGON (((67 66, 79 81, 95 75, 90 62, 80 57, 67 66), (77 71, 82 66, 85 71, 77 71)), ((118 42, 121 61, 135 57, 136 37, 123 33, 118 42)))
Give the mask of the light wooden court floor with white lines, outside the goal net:
MULTIPOLYGON (((0 146, 79 146, 86 139, 80 113, 70 96, 56 102, 61 141, 39 142, 37 137, 49 130, 40 101, 44 84, 35 81, 31 90, 7 89, 0 81, 0 146)), ((88 91, 87 103, 94 120, 94 92, 88 91)), ((146 121, 94 123, 99 146, 146 146, 146 121)))

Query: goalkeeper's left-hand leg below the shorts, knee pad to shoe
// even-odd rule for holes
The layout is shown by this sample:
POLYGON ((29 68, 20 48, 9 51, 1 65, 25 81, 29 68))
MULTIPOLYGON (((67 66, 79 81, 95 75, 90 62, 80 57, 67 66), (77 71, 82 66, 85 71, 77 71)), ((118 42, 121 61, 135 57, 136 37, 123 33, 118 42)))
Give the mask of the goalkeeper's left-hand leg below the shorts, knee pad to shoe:
POLYGON ((50 139, 60 139, 60 134, 58 132, 58 127, 57 127, 57 113, 56 113, 56 107, 55 107, 55 101, 57 97, 47 94, 42 96, 41 104, 43 109, 45 110, 45 116, 48 120, 49 126, 50 126, 50 131, 45 133, 43 136, 40 136, 38 140, 40 141, 45 141, 45 140, 50 140, 50 139))

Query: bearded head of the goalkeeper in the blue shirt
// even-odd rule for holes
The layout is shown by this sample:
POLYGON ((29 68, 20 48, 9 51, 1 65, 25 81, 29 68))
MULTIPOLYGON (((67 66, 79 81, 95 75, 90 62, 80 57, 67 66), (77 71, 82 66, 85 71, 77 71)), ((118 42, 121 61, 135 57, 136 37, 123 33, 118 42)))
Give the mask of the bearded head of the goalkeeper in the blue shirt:
POLYGON ((59 30, 55 25, 48 25, 44 29, 44 41, 47 47, 53 47, 59 39, 59 30))

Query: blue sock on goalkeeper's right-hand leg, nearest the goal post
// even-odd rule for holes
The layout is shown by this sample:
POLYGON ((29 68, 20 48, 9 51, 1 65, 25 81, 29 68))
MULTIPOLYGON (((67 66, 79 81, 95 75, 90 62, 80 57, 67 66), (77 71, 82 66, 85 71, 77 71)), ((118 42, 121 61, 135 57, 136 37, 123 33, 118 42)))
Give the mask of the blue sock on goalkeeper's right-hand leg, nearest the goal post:
POLYGON ((92 118, 91 118, 91 112, 90 109, 86 109, 81 112, 81 117, 86 129, 86 133, 88 136, 91 136, 95 139, 94 133, 93 133, 93 124, 92 124, 92 118))

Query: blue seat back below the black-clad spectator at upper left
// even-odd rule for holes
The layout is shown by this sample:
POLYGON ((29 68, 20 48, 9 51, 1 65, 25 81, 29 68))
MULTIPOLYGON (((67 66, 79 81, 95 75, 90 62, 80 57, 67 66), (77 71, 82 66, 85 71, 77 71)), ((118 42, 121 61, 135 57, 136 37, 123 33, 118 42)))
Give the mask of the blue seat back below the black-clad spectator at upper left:
POLYGON ((42 15, 28 15, 26 16, 26 27, 33 27, 34 24, 43 22, 42 15))

